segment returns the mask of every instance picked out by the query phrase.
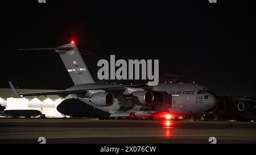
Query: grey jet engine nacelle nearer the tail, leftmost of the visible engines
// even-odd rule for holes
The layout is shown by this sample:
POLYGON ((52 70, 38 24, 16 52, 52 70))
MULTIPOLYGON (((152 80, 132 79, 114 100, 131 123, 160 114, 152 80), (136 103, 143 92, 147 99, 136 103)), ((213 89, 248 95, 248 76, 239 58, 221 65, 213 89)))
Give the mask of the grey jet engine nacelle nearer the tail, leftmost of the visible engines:
POLYGON ((106 92, 94 93, 89 101, 96 106, 106 107, 111 106, 114 103, 115 97, 113 94, 106 92))

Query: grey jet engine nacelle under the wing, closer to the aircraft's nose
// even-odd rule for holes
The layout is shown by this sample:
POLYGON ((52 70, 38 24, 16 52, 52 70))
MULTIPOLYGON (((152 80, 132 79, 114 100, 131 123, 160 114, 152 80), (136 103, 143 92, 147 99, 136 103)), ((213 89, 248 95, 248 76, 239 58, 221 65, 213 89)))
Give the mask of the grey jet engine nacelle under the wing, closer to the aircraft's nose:
POLYGON ((150 91, 134 91, 131 93, 134 97, 137 97, 140 104, 150 104, 154 100, 154 95, 150 91))

